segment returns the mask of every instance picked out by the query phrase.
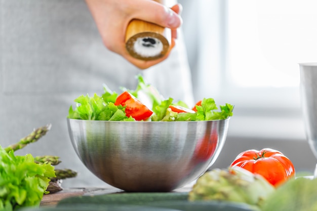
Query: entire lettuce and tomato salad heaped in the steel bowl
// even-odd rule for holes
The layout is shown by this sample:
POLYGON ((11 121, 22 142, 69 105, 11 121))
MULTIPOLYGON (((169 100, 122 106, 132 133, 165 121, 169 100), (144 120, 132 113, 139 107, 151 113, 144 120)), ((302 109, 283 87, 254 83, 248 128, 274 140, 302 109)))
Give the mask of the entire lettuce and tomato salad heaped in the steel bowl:
POLYGON ((213 98, 204 98, 189 108, 182 101, 164 98, 153 86, 137 75, 135 90, 121 88, 122 94, 112 92, 106 85, 102 95, 82 95, 70 106, 67 118, 107 121, 204 121, 232 116, 233 105, 219 108, 213 98))

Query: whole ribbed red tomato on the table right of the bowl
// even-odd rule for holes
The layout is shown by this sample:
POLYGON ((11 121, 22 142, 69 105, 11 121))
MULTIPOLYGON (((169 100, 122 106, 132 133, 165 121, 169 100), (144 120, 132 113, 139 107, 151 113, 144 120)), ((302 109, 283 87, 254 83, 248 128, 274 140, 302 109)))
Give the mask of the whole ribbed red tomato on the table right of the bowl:
POLYGON ((295 168, 291 160, 280 151, 269 148, 242 152, 230 166, 240 166, 259 174, 275 187, 295 177, 295 168))

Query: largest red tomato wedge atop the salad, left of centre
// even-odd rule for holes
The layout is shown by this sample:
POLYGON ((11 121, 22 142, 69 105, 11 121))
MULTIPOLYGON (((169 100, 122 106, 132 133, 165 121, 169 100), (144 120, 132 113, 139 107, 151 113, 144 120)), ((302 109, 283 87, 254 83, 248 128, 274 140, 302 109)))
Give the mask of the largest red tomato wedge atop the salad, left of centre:
POLYGON ((126 116, 132 116, 137 121, 145 120, 153 113, 153 111, 127 91, 116 98, 114 105, 126 106, 126 116))

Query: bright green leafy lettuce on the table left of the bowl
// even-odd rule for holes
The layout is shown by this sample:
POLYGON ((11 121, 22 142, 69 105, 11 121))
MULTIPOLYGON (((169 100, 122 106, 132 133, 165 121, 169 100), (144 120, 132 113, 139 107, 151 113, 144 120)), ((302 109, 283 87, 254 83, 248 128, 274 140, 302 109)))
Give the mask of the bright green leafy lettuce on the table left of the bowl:
POLYGON ((35 163, 31 154, 15 156, 0 146, 0 210, 39 205, 50 177, 55 177, 50 163, 35 163))

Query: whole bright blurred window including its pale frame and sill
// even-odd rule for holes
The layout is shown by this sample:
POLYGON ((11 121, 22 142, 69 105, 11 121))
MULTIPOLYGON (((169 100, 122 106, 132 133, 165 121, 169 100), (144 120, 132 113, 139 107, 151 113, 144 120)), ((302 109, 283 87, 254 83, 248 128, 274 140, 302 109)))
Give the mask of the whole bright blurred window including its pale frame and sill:
POLYGON ((303 138, 298 63, 317 62, 317 1, 200 2, 196 95, 235 105, 233 135, 303 138))

